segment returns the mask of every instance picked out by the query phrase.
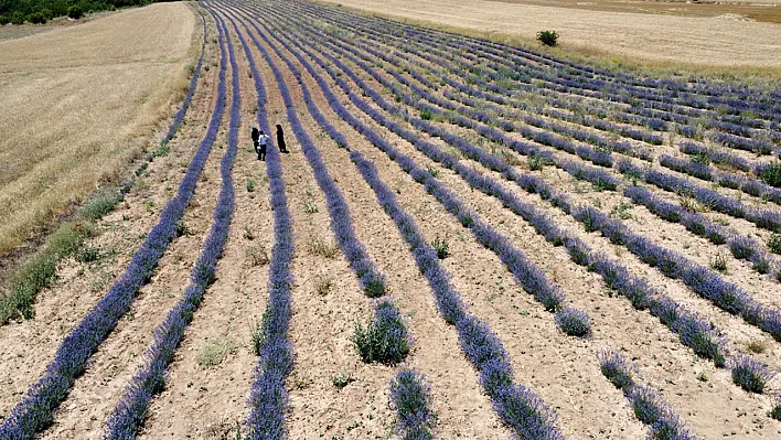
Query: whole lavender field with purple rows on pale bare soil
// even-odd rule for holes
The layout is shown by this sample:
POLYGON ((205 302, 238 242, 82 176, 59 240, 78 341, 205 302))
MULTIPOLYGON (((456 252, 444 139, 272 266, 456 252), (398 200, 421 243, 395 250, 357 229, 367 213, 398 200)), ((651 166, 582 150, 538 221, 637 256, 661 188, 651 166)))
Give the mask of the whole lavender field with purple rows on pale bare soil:
POLYGON ((771 79, 179 7, 169 135, 0 325, 0 439, 781 438, 771 79))

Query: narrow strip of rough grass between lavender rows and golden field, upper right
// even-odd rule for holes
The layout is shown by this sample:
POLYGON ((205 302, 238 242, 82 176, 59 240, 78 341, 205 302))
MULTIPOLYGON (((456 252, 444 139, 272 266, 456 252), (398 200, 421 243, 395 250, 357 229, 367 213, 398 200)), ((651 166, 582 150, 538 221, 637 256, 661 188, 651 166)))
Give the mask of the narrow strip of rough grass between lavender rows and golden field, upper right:
MULTIPOLYGON (((525 37, 509 32, 485 32, 458 25, 445 25, 434 21, 409 19, 393 13, 370 11, 340 3, 336 0, 309 0, 312 3, 339 8, 352 11, 364 17, 376 17, 395 22, 434 29, 437 31, 460 34, 464 36, 486 39, 495 43, 522 46, 547 55, 557 56, 567 61, 587 64, 607 71, 628 71, 634 75, 646 75, 652 77, 673 77, 681 75, 712 76, 718 79, 739 81, 746 85, 767 86, 769 82, 781 83, 781 69, 778 67, 755 67, 755 66, 714 66, 687 62, 668 62, 657 60, 633 58, 617 52, 601 50, 587 44, 566 44, 549 47, 542 45, 536 40, 525 37)), ((558 8, 568 9, 568 8, 558 8)), ((781 84, 773 84, 772 87, 781 87, 781 84)))

